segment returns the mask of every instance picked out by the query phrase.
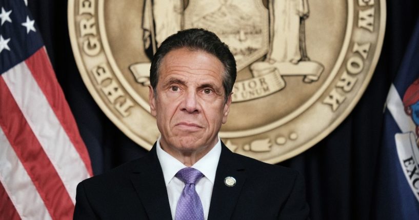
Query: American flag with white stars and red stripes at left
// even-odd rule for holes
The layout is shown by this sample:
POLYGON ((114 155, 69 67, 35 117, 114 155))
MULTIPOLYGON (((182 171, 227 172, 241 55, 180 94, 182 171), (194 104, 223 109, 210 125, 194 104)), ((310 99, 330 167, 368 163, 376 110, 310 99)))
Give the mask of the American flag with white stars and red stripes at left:
POLYGON ((71 219, 90 158, 23 0, 0 0, 0 219, 71 219))

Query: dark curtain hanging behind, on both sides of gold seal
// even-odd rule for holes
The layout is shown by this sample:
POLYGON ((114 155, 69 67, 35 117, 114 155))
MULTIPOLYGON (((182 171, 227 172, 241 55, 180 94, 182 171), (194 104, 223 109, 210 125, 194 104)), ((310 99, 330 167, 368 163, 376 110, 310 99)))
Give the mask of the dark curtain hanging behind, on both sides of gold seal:
MULTIPOLYGON (((378 1, 378 0, 377 0, 378 1)), ((68 35, 67 1, 29 0, 52 65, 95 174, 144 155, 99 109, 78 73, 68 35)), ((305 176, 311 219, 370 219, 380 154, 383 108, 419 14, 417 0, 388 0, 380 61, 360 102, 331 134, 280 163, 305 176)), ((419 40, 419 39, 418 39, 419 40)), ((419 61, 418 61, 419 62, 419 61)))

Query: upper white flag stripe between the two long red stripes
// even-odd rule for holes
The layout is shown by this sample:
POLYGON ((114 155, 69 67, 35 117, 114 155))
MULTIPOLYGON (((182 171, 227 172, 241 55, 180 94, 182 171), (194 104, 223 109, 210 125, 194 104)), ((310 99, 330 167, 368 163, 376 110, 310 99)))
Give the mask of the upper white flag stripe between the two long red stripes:
POLYGON ((82 158, 26 64, 16 65, 3 78, 75 204, 77 184, 89 177, 82 158))

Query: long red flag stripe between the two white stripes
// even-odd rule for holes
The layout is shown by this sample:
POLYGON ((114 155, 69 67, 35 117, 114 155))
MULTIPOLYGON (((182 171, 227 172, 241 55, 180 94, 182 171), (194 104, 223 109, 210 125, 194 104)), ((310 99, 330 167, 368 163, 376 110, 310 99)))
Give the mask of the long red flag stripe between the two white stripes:
MULTIPOLYGON (((74 205, 61 178, 0 77, 0 126, 53 219, 71 219, 74 205)), ((36 109, 34 109, 36 111, 36 109)))

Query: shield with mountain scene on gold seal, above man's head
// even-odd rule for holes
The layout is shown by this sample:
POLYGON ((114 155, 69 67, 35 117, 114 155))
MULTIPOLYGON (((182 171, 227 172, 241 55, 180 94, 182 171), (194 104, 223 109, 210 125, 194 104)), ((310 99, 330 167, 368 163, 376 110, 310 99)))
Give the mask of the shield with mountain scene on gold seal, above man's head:
POLYGON ((184 28, 204 28, 229 45, 237 71, 264 56, 269 49, 269 11, 262 1, 190 0, 184 28))

